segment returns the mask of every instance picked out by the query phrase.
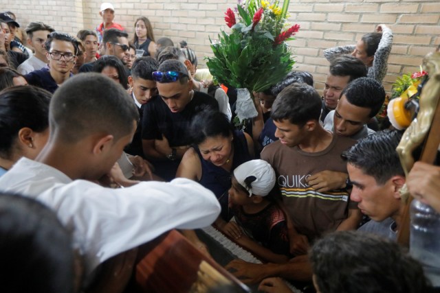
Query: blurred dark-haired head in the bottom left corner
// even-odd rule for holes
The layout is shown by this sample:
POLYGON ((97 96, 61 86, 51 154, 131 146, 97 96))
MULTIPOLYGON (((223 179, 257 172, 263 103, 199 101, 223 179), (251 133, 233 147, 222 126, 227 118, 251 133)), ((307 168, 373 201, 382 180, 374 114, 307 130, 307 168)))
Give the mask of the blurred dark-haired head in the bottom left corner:
POLYGON ((2 292, 75 292, 72 235, 32 198, 0 193, 0 258, 2 292))

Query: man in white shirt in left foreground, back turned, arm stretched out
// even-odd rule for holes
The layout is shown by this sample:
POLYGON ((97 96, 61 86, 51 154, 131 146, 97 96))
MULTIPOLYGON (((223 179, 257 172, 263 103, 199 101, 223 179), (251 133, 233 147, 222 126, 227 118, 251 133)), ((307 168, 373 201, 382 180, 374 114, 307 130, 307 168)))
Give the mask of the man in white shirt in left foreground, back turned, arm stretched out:
POLYGON ((99 73, 69 78, 50 104, 50 137, 35 161, 22 158, 0 179, 2 191, 52 208, 73 231, 85 277, 107 259, 173 228, 209 226, 214 194, 192 180, 143 182, 124 189, 96 184, 130 143, 139 113, 122 86, 99 73))

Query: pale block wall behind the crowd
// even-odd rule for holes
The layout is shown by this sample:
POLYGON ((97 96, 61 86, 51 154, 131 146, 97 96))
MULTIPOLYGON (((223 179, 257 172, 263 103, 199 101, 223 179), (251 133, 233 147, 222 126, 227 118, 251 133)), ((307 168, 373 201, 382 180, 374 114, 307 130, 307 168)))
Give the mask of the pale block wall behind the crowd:
MULTIPOLYGON (((107 0, 106 0, 107 1, 107 0)), ((236 0, 111 0, 115 21, 133 36, 134 21, 143 15, 153 24, 155 37, 168 36, 175 44, 186 40, 203 68, 212 54, 210 38, 228 30, 223 20, 236 0)), ((25 26, 43 21, 56 30, 76 34, 100 23, 98 0, 0 0, 0 11, 11 10, 25 26)), ((299 23, 296 40, 289 43, 296 56, 296 69, 314 75, 322 91, 329 62, 322 51, 336 45, 354 44, 367 32, 384 23, 394 33, 384 86, 402 73, 417 71, 423 56, 440 45, 440 2, 438 0, 291 0, 291 23, 299 23)))

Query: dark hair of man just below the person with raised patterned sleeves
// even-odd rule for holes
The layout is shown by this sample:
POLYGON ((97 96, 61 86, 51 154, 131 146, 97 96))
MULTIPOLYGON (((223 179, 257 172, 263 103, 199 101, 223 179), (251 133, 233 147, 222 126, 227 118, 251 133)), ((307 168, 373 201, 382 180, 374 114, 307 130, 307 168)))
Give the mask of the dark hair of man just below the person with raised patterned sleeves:
POLYGON ((354 56, 339 56, 330 62, 330 74, 334 76, 349 76, 351 82, 356 78, 366 77, 368 72, 364 63, 354 56))

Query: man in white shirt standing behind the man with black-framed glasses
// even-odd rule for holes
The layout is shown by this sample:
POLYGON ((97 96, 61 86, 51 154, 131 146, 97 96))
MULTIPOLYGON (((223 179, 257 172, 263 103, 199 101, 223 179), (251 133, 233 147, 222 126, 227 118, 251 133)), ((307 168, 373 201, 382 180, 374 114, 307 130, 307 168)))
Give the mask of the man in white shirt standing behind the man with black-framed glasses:
POLYGON ((34 22, 29 23, 25 31, 28 34, 28 45, 34 48, 35 53, 17 67, 17 71, 23 75, 47 67, 49 60, 46 57, 47 51, 44 44, 47 35, 54 32, 54 29, 45 23, 34 22))

